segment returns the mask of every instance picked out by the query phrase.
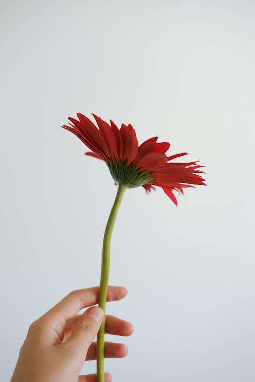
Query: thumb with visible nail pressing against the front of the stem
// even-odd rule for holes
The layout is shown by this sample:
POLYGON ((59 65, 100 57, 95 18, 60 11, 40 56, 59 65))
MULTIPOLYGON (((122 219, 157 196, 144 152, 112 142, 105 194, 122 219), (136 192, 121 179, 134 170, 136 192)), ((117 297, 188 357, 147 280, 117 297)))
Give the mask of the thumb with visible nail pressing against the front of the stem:
POLYGON ((72 334, 65 342, 73 350, 87 354, 88 348, 99 331, 103 320, 103 310, 97 306, 87 309, 75 324, 72 334))

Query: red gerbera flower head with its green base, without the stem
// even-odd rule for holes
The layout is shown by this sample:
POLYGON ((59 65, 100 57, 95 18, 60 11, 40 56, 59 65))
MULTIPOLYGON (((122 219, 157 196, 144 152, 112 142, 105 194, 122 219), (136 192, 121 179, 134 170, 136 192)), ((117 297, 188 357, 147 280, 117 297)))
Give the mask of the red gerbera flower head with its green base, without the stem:
POLYGON ((70 126, 62 126, 77 135, 91 150, 87 155, 104 160, 113 179, 129 188, 142 186, 146 192, 161 187, 169 198, 177 205, 173 191, 183 194, 183 188, 193 185, 205 185, 204 179, 198 175, 203 167, 196 162, 175 163, 173 159, 183 155, 166 156, 170 147, 168 142, 157 142, 153 137, 138 146, 136 132, 129 125, 121 128, 110 121, 111 125, 93 114, 99 129, 90 119, 77 113, 77 119, 69 117, 70 126))

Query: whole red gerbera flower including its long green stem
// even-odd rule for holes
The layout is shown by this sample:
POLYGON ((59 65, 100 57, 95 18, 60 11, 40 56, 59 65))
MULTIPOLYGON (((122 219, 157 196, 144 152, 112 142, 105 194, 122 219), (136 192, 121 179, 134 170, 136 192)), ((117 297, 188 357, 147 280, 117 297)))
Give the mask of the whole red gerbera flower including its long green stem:
MULTIPOLYGON (((104 160, 113 179, 119 183, 117 195, 111 209, 102 248, 102 267, 99 291, 99 307, 103 309, 105 317, 107 285, 110 267, 110 243, 116 215, 126 188, 143 186, 148 193, 154 186, 163 191, 177 205, 174 190, 183 193, 183 188, 193 187, 203 183, 199 175, 198 162, 174 163, 173 159, 187 153, 166 156, 169 149, 168 142, 158 143, 158 137, 153 137, 138 146, 135 130, 131 125, 122 124, 121 128, 112 122, 109 125, 100 117, 95 117, 98 128, 83 114, 78 113, 78 120, 69 118, 70 126, 62 126, 77 135, 91 150, 87 155, 104 160)), ((104 335, 105 318, 97 335, 96 359, 97 381, 104 382, 104 335)))

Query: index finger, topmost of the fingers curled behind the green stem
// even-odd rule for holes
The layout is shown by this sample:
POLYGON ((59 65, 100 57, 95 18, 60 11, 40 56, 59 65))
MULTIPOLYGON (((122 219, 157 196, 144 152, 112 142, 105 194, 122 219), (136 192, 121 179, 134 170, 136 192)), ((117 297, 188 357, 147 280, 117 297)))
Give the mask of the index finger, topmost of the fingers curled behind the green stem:
MULTIPOLYGON (((127 294, 125 287, 108 286, 107 301, 116 301, 124 298, 127 294)), ((99 287, 77 289, 69 293, 58 304, 44 314, 44 317, 52 317, 55 320, 60 317, 64 322, 75 316, 82 308, 98 303, 99 287)))

